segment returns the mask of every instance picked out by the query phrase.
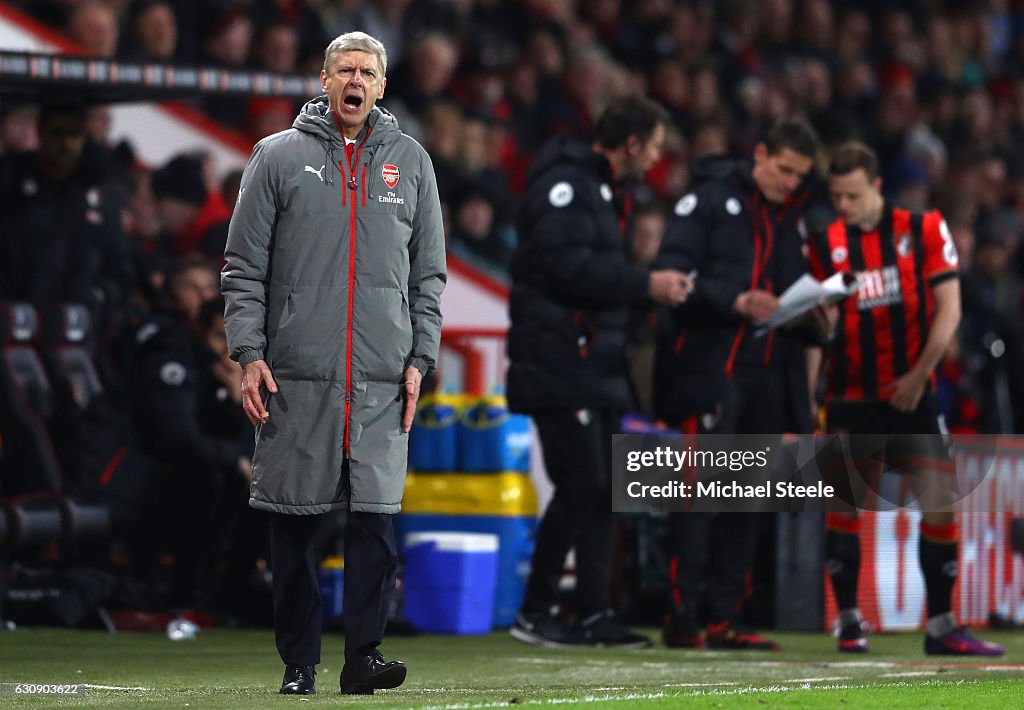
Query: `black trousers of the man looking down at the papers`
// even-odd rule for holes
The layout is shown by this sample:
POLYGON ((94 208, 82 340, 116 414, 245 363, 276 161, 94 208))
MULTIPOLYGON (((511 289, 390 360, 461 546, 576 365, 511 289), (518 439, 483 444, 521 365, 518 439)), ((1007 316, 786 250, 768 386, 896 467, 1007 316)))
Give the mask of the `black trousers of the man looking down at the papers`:
MULTIPOLYGON (((781 433, 790 420, 790 408, 803 404, 790 399, 780 372, 772 368, 737 369, 720 411, 699 417, 697 433, 781 433)), ((697 610, 703 609, 709 622, 738 617, 760 524, 756 512, 669 516, 671 583, 677 610, 695 618, 697 610)))

